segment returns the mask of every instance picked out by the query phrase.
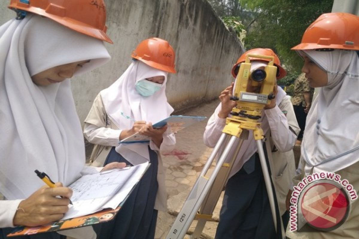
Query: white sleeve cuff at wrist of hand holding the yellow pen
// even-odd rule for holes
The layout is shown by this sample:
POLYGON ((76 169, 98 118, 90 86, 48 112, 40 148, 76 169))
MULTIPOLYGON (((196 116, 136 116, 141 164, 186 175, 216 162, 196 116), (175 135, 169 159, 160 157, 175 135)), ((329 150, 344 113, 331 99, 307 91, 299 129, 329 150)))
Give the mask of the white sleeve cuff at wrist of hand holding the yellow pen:
POLYGON ((22 199, 0 200, 0 228, 14 227, 14 216, 21 201, 22 199))

